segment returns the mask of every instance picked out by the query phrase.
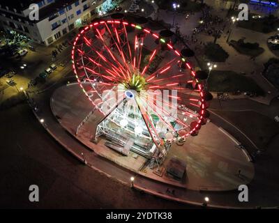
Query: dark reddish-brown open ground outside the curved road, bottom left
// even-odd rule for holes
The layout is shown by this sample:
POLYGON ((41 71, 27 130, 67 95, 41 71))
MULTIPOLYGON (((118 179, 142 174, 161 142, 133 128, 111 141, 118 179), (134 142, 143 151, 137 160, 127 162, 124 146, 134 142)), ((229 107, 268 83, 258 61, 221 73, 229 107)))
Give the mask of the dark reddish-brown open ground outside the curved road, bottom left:
POLYGON ((133 191, 67 153, 26 104, 0 112, 0 208, 190 208, 133 191), (40 201, 29 201, 29 185, 40 201))

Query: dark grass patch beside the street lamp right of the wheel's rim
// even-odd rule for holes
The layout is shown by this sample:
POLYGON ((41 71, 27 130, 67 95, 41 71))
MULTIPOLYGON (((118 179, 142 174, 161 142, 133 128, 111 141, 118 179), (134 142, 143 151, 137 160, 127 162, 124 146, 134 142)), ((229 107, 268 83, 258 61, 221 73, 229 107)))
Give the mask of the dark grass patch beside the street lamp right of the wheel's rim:
POLYGON ((264 95, 264 91, 253 79, 229 70, 212 70, 209 76, 209 91, 229 92, 237 91, 264 95))

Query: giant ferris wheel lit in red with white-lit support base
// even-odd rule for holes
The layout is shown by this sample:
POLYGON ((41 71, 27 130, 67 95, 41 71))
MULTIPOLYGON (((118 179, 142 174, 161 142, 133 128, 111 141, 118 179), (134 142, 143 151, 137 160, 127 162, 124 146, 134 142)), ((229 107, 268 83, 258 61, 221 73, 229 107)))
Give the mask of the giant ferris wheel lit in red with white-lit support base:
POLYGON ((199 132, 212 98, 207 73, 190 62, 193 52, 176 49, 171 31, 154 33, 145 20, 126 22, 119 14, 84 27, 73 45, 73 70, 100 116, 96 137, 164 150, 199 132))

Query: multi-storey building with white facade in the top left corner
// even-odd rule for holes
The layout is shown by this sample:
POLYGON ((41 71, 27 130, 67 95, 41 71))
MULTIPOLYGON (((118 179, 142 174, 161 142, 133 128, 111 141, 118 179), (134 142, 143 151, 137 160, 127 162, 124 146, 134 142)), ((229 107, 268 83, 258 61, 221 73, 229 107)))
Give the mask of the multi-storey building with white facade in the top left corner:
POLYGON ((83 23, 90 22, 104 0, 1 0, 0 22, 36 43, 50 45, 83 23), (38 4, 38 20, 30 20, 31 3, 38 4))

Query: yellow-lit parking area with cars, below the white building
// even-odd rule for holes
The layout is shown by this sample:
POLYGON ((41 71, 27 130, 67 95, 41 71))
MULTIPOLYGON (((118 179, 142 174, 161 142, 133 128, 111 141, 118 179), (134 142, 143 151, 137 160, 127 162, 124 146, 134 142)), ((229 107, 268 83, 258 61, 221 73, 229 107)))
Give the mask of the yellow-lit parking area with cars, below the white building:
MULTIPOLYGON (((56 82, 68 72, 70 64, 70 43, 75 33, 70 33, 57 41, 56 45, 45 47, 32 43, 29 47, 17 47, 17 53, 10 54, 11 50, 6 45, 5 38, 1 38, 1 46, 8 46, 1 50, 0 58, 0 102, 17 94, 19 91, 39 91, 45 83, 56 82), (58 50, 59 49, 59 50, 58 50), (53 56, 54 50, 57 51, 53 56), (21 54, 19 54, 19 53, 21 54), (56 68, 50 68, 54 64, 56 68)), ((19 44, 17 44, 19 45, 19 44)), ((13 47, 12 47, 13 49, 13 47)), ((48 83, 50 84, 50 83, 48 83)))

